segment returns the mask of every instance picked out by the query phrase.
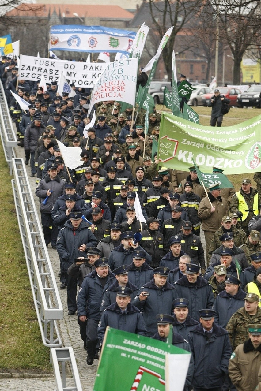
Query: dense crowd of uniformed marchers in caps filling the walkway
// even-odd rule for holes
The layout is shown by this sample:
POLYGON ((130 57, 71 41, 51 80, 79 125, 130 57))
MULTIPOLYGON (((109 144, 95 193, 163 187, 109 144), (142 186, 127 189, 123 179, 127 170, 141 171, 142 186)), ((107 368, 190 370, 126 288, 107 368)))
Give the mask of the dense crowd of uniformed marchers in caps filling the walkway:
MULTIPOLYGON (((248 178, 237 192, 214 183, 206 197, 196 167, 158 169, 155 108, 145 135, 144 111, 120 113, 117 102, 101 102, 86 139, 90 91, 72 85, 74 98, 59 97, 56 83, 43 91, 39 83, 19 80, 17 93, 30 103, 25 114, 8 94, 17 84, 13 68, 9 63, 1 78, 25 164, 31 159, 31 176, 37 176, 45 243, 58 252, 60 288, 67 289, 68 315, 77 311, 87 364, 99 358, 106 326, 168 341, 172 325, 172 343, 192 352, 185 389, 254 389, 260 376, 260 365, 253 366, 261 341, 261 173, 254 174, 256 188, 248 178), (56 140, 82 148, 75 170, 64 166, 56 140), (253 352, 242 368, 242 357, 253 352), (247 383, 244 370, 251 373, 247 383)), ((213 173, 223 170, 213 167, 213 173)))

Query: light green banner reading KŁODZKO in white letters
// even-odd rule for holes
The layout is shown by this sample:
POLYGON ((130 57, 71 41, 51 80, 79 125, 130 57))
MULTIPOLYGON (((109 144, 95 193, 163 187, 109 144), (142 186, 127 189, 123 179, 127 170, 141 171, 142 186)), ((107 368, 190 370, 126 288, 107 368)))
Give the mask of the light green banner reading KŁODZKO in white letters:
POLYGON ((234 126, 192 124, 164 111, 160 122, 160 165, 187 171, 193 165, 225 174, 261 171, 261 115, 234 126))

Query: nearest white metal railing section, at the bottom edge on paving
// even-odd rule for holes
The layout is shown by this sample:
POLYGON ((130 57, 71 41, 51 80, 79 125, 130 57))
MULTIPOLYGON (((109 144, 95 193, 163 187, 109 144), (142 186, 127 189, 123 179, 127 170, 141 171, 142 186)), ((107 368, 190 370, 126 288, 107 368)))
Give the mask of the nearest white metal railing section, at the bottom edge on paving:
POLYGON ((79 377, 73 348, 53 348, 51 349, 51 362, 54 369, 54 376, 57 391, 82 391, 81 380, 79 377), (59 368, 61 364, 61 369, 59 368), (67 386, 65 376, 65 365, 70 364, 74 384, 67 386))

